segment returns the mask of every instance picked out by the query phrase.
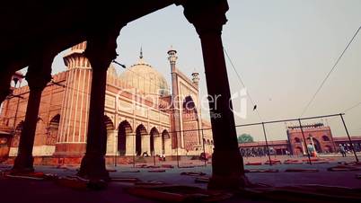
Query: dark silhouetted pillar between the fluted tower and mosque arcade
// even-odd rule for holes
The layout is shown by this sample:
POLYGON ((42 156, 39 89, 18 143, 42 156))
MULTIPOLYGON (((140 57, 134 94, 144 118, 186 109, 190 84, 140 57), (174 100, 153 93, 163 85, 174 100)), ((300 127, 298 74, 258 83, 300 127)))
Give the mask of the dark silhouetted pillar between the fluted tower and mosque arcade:
POLYGON ((92 92, 89 106, 88 135, 86 153, 78 175, 92 180, 108 180, 105 168, 106 129, 104 125, 104 102, 107 70, 111 61, 117 57, 117 37, 120 29, 102 30, 87 39, 85 56, 92 65, 92 92))

